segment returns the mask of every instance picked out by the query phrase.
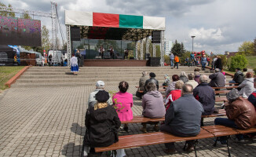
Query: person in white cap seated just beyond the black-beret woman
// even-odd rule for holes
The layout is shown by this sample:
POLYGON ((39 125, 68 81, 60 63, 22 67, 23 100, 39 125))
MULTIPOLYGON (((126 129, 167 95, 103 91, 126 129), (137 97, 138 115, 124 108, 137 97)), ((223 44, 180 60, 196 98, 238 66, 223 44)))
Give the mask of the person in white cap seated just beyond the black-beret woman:
MULTIPOLYGON (((105 84, 104 84, 103 81, 97 81, 96 82, 96 89, 94 90, 94 92, 90 93, 89 98, 88 98, 88 109, 93 108, 94 105, 97 103, 97 100, 95 99, 95 95, 100 90, 104 90, 104 85, 105 84)), ((108 102, 109 105, 112 105, 112 97, 109 97, 107 102, 108 102)))

